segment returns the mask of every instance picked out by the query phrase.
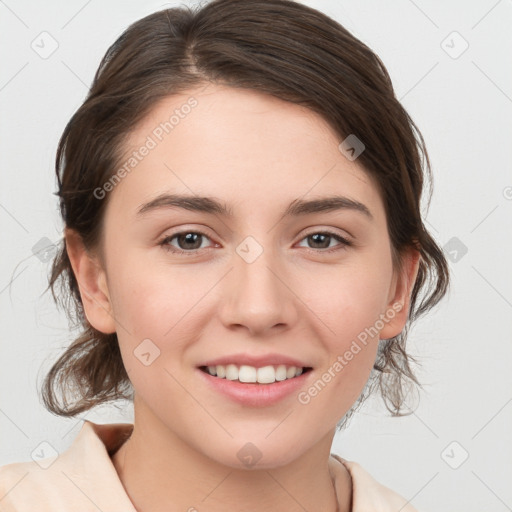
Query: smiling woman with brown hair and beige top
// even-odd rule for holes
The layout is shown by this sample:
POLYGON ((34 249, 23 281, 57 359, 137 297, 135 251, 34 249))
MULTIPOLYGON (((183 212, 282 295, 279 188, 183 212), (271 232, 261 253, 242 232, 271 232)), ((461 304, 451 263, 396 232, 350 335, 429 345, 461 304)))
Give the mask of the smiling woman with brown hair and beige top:
POLYGON ((107 51, 56 172, 50 285, 83 332, 43 399, 133 398, 135 419, 1 468, 3 510, 414 510, 330 454, 373 389, 400 412, 407 328, 448 286, 423 139, 369 48, 287 0, 154 13, 107 51))

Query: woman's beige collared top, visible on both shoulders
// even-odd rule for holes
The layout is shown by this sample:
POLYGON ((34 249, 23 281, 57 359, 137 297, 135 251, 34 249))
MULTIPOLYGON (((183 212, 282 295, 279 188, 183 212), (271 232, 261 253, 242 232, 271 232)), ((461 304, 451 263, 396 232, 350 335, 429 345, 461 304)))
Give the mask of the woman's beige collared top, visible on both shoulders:
MULTIPOLYGON (((0 467, 1 512, 136 512, 119 479, 111 456, 130 436, 131 423, 84 421, 72 445, 56 459, 0 467)), ((55 454, 57 455, 57 454, 55 454)), ((352 476, 352 512, 417 512, 391 489, 379 484, 356 462, 331 455, 336 487, 344 473, 352 476)))

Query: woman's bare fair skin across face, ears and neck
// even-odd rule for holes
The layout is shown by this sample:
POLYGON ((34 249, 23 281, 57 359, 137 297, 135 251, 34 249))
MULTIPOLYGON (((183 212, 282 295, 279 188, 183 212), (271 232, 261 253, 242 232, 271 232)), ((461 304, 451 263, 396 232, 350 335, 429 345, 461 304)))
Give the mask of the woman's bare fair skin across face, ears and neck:
MULTIPOLYGON (((132 131, 127 154, 192 95, 198 105, 104 199, 102 257, 66 230, 87 319, 117 332, 135 389, 134 431, 114 466, 139 511, 334 511, 336 423, 367 382, 379 337, 405 325, 419 254, 404 253, 394 270, 376 184, 326 121, 296 104, 213 84, 170 96, 132 131), (137 218, 162 192, 218 198, 233 217, 163 208, 137 218), (350 209, 282 218, 293 200, 334 192, 372 218, 350 209), (315 245, 309 235, 326 229, 352 245, 315 245), (190 231, 206 236, 167 244, 193 255, 159 245, 190 231), (252 263, 236 252, 247 236, 263 249, 252 263), (307 390, 396 303, 402 310, 308 404, 293 393, 243 407, 198 378, 208 359, 273 352, 309 362, 307 390), (134 350, 147 338, 160 356, 145 366, 134 350), (237 457, 248 442, 261 453, 251 468, 237 457)), ((338 475, 340 511, 349 510, 350 476, 338 475)))

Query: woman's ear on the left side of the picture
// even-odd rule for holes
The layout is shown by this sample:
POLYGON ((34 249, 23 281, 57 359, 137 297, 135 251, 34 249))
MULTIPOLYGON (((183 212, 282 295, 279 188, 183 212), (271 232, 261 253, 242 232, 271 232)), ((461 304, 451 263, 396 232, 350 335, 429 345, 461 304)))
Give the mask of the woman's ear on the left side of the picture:
POLYGON ((66 250, 78 282, 84 313, 89 323, 104 334, 116 331, 105 271, 85 248, 80 235, 64 231, 66 250))

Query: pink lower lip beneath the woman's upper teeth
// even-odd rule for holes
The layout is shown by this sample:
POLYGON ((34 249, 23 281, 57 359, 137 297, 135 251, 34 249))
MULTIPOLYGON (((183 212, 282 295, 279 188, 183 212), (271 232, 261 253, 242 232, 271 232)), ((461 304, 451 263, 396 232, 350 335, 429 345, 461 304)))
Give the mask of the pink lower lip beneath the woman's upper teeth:
POLYGON ((221 379, 205 373, 199 368, 201 378, 215 391, 227 396, 235 402, 251 407, 265 407, 273 405, 294 393, 304 386, 305 380, 312 370, 302 373, 293 379, 276 381, 272 384, 245 383, 238 380, 221 379))

